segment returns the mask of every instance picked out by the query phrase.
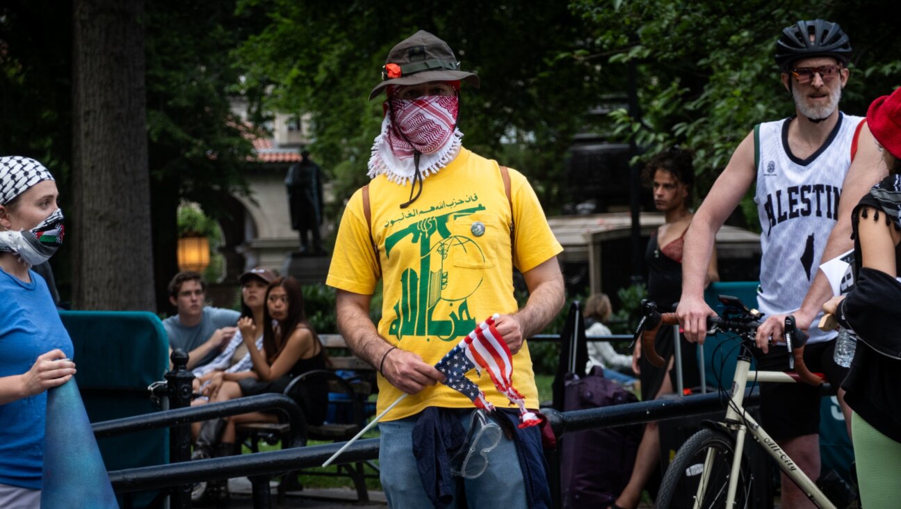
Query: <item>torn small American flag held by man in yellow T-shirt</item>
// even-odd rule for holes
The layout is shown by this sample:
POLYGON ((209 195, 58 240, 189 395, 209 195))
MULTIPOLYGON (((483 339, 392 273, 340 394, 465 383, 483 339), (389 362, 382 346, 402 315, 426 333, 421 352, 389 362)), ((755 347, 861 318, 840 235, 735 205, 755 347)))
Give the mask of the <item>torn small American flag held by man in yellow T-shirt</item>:
POLYGON ((488 372, 497 390, 512 403, 519 406, 519 427, 525 428, 541 423, 538 416, 525 408, 525 398, 513 386, 513 356, 503 337, 495 328, 495 320, 499 315, 479 323, 478 327, 463 338, 435 368, 447 377, 445 384, 469 397, 478 408, 488 412, 494 405, 488 403, 485 394, 465 376, 469 369, 476 368, 479 376, 482 370, 488 372))

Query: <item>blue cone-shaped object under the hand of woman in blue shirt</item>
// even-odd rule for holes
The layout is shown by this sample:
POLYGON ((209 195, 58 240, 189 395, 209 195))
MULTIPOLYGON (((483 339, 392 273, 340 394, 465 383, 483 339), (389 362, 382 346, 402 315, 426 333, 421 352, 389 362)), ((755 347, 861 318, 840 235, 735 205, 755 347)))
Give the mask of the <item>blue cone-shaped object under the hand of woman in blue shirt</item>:
POLYGON ((47 391, 41 509, 119 508, 75 378, 47 391))

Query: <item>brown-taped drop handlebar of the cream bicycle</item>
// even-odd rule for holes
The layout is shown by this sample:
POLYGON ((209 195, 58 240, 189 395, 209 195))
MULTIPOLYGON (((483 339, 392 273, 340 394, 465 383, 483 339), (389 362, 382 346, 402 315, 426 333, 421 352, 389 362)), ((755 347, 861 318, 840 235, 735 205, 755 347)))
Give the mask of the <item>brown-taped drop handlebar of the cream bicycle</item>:
MULTIPOLYGON (((652 365, 663 368, 666 360, 660 357, 657 349, 654 348, 654 342, 657 339, 657 332, 661 325, 678 325, 678 317, 675 313, 660 313, 657 311, 657 304, 651 301, 642 303, 642 320, 638 324, 635 331, 635 339, 641 337, 642 351, 645 358, 652 365)), ((720 316, 707 317, 707 330, 720 329, 723 331, 735 332, 740 335, 744 341, 754 342, 754 335, 760 321, 751 315, 740 315, 739 318, 729 318, 720 316)), ((807 341, 806 334, 803 331, 796 330, 795 317, 787 316, 785 323, 785 337, 788 346, 789 355, 795 361, 795 371, 801 381, 811 386, 819 386, 823 384, 823 379, 817 377, 807 369, 804 363, 804 345, 807 341)))

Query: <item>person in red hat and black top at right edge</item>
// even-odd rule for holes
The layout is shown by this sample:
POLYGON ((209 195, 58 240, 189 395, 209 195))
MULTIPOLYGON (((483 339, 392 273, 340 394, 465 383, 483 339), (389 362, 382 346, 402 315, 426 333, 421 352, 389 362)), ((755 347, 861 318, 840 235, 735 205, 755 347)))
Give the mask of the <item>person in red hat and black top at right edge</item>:
MULTIPOLYGON (((842 383, 851 406, 851 431, 863 507, 899 507, 901 492, 901 89, 879 97, 860 132, 878 143, 890 175, 860 199, 851 216, 855 285, 826 313, 859 340, 842 383)), ((869 147, 871 149, 871 147, 869 147)), ((860 157, 860 154, 859 154, 860 157)))

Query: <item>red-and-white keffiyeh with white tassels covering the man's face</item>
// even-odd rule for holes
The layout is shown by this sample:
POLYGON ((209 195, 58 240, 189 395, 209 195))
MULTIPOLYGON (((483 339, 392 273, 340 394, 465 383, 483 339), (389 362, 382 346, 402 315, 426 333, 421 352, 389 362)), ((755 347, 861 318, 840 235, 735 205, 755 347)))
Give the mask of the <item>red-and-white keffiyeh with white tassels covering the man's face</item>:
POLYGON ((460 102, 456 95, 425 95, 412 100, 388 99, 382 132, 372 144, 369 177, 385 174, 404 185, 415 177, 414 150, 420 152, 422 177, 437 172, 457 157, 463 133, 456 128, 460 102), (394 128, 394 110, 398 128, 394 128))

